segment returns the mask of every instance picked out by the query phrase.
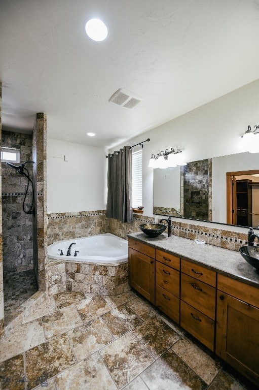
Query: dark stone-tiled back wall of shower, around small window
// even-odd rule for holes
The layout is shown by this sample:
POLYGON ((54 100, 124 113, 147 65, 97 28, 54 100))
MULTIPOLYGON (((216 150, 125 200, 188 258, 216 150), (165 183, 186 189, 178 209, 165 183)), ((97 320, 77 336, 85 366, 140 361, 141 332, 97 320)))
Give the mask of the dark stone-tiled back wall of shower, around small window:
MULTIPOLYGON (((32 160, 32 136, 2 132, 2 146, 20 149, 20 163, 32 160)), ((2 163, 3 264, 4 272, 17 273, 33 268, 32 215, 23 211, 27 179, 2 163)), ((27 166, 30 176, 32 165, 27 166)), ((28 189, 25 210, 30 207, 32 188, 28 189)))

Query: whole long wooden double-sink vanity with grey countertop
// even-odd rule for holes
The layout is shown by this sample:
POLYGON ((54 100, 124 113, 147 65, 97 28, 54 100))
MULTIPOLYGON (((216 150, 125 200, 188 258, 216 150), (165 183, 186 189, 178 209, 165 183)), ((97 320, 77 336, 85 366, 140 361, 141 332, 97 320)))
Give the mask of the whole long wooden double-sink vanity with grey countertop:
POLYGON ((129 234, 129 284, 259 385, 259 274, 239 252, 129 234))

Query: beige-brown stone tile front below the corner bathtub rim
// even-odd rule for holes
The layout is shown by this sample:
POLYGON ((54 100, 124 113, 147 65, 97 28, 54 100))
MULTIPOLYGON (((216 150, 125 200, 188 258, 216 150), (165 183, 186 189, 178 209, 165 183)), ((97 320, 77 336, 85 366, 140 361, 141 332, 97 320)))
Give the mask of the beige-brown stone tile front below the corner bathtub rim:
POLYGON ((128 285, 128 260, 120 263, 87 264, 52 261, 48 266, 49 294, 76 291, 99 295, 122 294, 128 285))

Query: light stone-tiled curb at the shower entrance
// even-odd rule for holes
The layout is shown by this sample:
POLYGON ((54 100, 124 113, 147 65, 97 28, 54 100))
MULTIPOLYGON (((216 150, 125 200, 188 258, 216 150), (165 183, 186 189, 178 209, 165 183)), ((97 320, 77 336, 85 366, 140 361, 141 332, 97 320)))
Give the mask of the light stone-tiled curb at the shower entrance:
POLYGON ((30 315, 37 306, 41 305, 48 295, 46 291, 36 291, 29 299, 20 305, 20 313, 9 322, 4 329, 5 335, 12 332, 15 328, 22 324, 22 321, 30 315))

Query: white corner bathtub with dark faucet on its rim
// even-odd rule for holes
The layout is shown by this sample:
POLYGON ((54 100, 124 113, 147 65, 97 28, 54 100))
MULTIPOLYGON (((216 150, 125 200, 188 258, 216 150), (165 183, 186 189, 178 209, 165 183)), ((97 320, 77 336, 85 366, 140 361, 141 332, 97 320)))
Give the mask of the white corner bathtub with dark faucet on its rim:
POLYGON ((56 241, 48 246, 48 257, 69 263, 124 263, 128 261, 128 241, 110 233, 56 241), (72 242, 76 245, 71 246, 71 255, 66 256, 72 242), (62 249, 63 255, 60 255, 59 249, 62 249), (75 251, 78 251, 77 256, 75 251))

